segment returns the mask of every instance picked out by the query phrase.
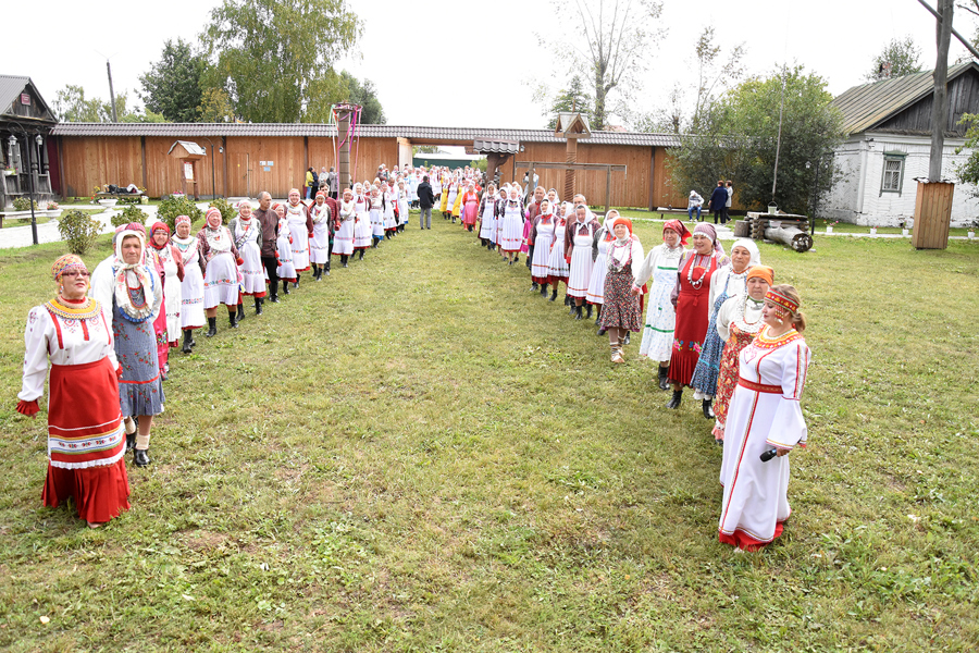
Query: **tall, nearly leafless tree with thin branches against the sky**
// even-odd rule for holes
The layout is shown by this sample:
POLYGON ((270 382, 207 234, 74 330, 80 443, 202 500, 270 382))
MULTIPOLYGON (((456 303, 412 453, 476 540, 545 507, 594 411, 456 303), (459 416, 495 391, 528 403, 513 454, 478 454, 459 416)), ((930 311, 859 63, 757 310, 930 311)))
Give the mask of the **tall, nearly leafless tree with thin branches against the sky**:
POLYGON ((656 26, 662 2, 555 0, 555 9, 556 15, 574 16, 581 30, 581 38, 561 41, 561 53, 568 56, 571 71, 587 79, 592 128, 605 130, 610 114, 630 114, 629 101, 641 87, 639 75, 664 35, 656 26))

